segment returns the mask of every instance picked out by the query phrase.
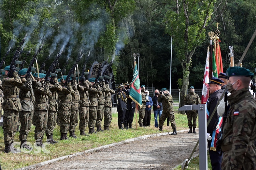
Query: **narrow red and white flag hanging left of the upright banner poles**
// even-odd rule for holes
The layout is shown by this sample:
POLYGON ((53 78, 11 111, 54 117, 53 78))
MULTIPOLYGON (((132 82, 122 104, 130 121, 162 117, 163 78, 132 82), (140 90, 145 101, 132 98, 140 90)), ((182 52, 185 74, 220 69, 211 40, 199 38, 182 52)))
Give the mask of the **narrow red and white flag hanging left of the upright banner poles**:
POLYGON ((203 77, 203 91, 202 91, 202 100, 201 104, 206 104, 208 100, 209 95, 209 47, 207 49, 207 57, 206 57, 206 63, 205 63, 205 69, 204 69, 204 77, 203 77))

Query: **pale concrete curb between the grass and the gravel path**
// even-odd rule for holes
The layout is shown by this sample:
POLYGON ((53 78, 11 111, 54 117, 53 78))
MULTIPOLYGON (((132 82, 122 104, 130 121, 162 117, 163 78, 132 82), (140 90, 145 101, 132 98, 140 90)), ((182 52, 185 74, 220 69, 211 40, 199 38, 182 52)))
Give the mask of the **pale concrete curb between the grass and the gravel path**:
MULTIPOLYGON (((181 133, 181 132, 185 132, 185 131, 188 131, 188 130, 181 130, 181 131, 177 131, 177 132, 181 133)), ((38 163, 38 164, 29 165, 29 166, 26 166, 26 167, 23 167, 23 168, 19 168, 18 170, 36 169, 36 168, 40 168, 44 165, 51 164, 51 163, 54 163, 54 162, 57 162, 57 161, 60 161, 60 160, 63 160, 63 159, 72 158, 72 157, 80 156, 80 155, 85 155, 86 153, 97 152, 97 151, 100 151, 100 150, 103 150, 103 149, 107 149, 107 148, 110 148, 110 147, 122 145, 124 143, 132 142, 132 141, 136 141, 136 140, 146 139, 146 138, 149 138, 149 137, 161 136, 161 135, 170 135, 171 133, 172 132, 165 132, 165 133, 144 135, 144 136, 140 136, 140 137, 136 137, 136 138, 132 138, 132 139, 127 139, 127 140, 123 140, 123 141, 120 141, 120 142, 117 142, 117 143, 111 143, 109 145, 104 145, 104 146, 101 146, 101 147, 98 147, 98 148, 89 149, 89 150, 86 150, 86 151, 83 151, 83 152, 77 152, 75 154, 61 156, 61 157, 51 159, 51 160, 47 160, 47 161, 44 161, 44 162, 41 162, 41 163, 38 163)), ((179 165, 177 165, 177 166, 179 166, 179 165)))

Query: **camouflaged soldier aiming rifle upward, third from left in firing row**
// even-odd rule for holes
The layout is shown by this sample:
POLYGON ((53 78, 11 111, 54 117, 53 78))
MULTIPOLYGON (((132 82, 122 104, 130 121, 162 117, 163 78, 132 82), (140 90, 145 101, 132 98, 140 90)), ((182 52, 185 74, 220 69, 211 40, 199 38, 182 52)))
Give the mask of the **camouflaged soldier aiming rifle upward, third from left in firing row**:
MULTIPOLYGON (((37 78, 37 73, 34 73, 33 76, 37 78)), ((52 93, 49 91, 49 81, 50 79, 44 80, 45 74, 39 73, 39 81, 41 83, 40 87, 37 87, 34 90, 35 96, 35 105, 34 105, 34 115, 35 115, 35 140, 36 146, 43 146, 43 137, 47 128, 48 121, 48 99, 51 98, 52 93), (46 81, 44 83, 44 81, 46 81)))

